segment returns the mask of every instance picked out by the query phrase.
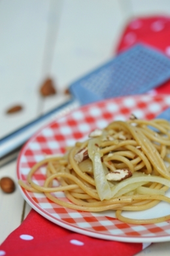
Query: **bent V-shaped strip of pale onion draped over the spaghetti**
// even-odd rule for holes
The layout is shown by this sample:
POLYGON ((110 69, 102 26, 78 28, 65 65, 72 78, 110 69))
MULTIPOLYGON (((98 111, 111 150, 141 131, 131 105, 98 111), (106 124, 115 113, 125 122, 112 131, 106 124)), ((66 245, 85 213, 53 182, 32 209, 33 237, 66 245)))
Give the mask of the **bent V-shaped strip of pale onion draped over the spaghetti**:
POLYGON ((101 200, 109 200, 111 198, 115 198, 116 196, 126 194, 127 192, 133 191, 134 189, 137 189, 137 187, 149 182, 161 183, 167 187, 170 187, 170 181, 168 179, 154 175, 146 175, 140 172, 135 172, 132 177, 129 177, 124 181, 120 181, 120 183, 117 185, 110 187, 105 175, 106 169, 103 168, 103 164, 101 162, 101 155, 99 153, 100 144, 101 139, 99 137, 90 139, 88 143, 88 155, 93 162, 95 187, 101 200))

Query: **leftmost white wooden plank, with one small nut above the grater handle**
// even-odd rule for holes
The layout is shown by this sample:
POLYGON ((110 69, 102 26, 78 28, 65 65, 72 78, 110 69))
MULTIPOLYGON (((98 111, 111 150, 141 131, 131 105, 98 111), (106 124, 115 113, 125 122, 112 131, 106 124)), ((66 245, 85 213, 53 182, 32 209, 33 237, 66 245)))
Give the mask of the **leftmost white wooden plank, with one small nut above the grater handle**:
POLYGON ((37 117, 50 1, 0 1, 0 137, 37 117), (37 18, 38 17, 38 18, 37 18), (16 104, 24 110, 6 115, 16 104))

